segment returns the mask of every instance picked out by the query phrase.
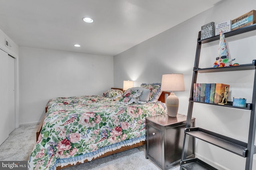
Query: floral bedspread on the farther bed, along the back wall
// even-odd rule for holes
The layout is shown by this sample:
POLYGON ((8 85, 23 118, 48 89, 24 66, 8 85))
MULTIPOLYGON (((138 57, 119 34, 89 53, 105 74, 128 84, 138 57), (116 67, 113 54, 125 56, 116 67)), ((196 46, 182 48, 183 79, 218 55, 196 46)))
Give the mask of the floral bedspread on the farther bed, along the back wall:
POLYGON ((95 102, 109 102, 109 101, 112 101, 112 99, 101 96, 101 95, 53 98, 48 101, 47 109, 51 107, 63 106, 63 105, 89 104, 89 103, 95 103, 95 102))

